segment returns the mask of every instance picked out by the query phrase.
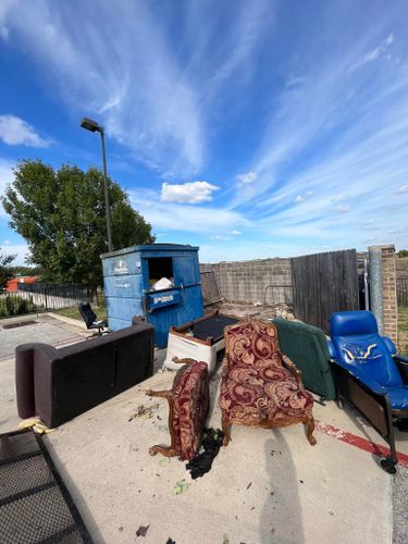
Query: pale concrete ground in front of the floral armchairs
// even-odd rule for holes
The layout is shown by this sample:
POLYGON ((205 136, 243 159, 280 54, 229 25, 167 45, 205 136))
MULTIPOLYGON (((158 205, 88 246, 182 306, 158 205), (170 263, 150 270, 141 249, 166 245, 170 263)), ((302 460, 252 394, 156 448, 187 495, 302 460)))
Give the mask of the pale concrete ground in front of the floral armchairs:
MULTIPOLYGON (((168 388, 173 378, 156 374, 46 437, 96 542, 134 542, 140 526, 149 526, 146 543, 391 542, 392 478, 326 434, 317 433, 312 447, 301 425, 234 426, 211 472, 196 481, 177 459, 163 466, 150 457, 149 446, 169 442, 168 407, 144 391, 168 388), (141 404, 159 407, 151 419, 129 421, 141 404), (174 496, 182 479, 188 491, 174 496)), ((218 384, 215 376, 213 399, 218 384)), ((333 420, 336 410, 331 404, 320 417, 333 420)), ((214 403, 210 424, 220 425, 214 403)))

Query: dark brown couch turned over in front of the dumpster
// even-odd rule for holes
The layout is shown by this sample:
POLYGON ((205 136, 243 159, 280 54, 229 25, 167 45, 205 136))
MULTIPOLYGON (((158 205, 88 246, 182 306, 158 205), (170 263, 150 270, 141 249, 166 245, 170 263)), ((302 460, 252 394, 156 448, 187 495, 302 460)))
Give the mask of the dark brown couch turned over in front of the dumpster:
POLYGON ((147 323, 61 349, 22 344, 15 350, 18 416, 58 426, 151 376, 153 350, 147 323))

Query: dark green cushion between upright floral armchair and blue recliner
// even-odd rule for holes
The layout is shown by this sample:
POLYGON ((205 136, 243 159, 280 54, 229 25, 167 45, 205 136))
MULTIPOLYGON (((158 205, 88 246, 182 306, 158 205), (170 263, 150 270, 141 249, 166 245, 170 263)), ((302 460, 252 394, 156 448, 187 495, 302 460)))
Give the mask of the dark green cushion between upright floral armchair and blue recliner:
POLYGON ((324 333, 300 321, 275 318, 281 351, 302 372, 304 385, 329 400, 336 397, 335 378, 324 333))

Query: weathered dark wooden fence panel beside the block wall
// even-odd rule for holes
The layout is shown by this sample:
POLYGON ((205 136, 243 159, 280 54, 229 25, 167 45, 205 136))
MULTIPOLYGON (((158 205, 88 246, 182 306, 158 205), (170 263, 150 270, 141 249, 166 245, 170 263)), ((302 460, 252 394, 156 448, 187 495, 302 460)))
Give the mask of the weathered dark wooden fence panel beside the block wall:
POLYGON ((295 316, 329 332, 333 312, 358 310, 355 249, 307 255, 292 260, 295 316))

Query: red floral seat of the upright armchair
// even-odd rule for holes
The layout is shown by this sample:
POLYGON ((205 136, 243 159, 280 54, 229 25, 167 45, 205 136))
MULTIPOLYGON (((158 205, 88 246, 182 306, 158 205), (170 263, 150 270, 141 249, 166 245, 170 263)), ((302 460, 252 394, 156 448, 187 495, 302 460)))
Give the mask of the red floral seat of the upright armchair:
POLYGON ((311 413, 313 397, 284 367, 257 360, 250 367, 230 370, 221 385, 219 404, 231 421, 255 424, 262 420, 304 419, 311 413))

